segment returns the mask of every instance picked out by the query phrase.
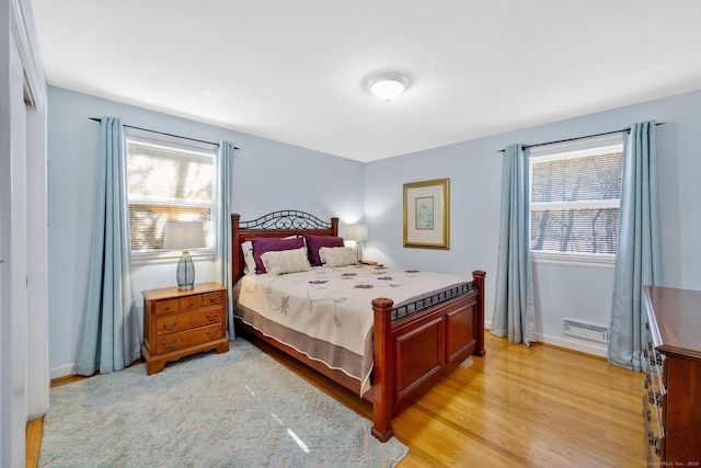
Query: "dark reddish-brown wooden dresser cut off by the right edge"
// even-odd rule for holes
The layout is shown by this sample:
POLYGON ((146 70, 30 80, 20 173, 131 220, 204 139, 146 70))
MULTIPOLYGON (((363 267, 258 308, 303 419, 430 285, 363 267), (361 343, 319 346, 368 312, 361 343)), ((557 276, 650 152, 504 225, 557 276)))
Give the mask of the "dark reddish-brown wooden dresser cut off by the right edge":
POLYGON ((701 466, 701 292, 645 286, 648 466, 701 466))

